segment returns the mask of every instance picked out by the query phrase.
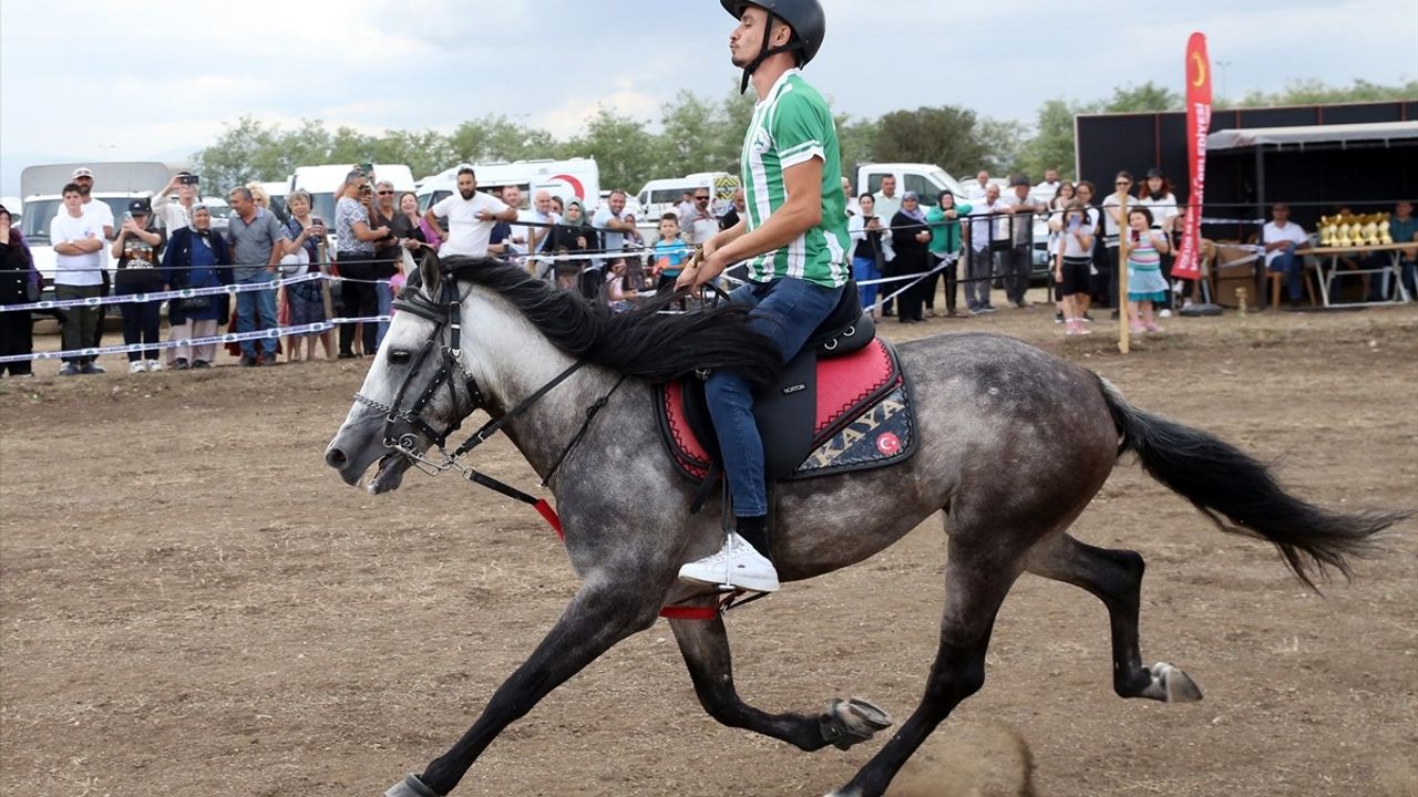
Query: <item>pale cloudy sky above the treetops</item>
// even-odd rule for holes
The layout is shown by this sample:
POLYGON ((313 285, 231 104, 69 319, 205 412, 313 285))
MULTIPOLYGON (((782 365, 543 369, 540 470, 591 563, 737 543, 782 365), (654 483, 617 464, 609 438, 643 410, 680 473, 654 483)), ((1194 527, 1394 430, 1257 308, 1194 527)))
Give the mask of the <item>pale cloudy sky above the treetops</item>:
MULTIPOLYGON (((953 104, 1028 122, 1054 96, 1180 88, 1193 30, 1231 95, 1418 75, 1414 0, 824 4, 810 77, 859 116, 953 104)), ((652 121, 678 89, 736 85, 732 28, 713 0, 0 0, 0 194, 30 163, 184 159, 241 115, 373 132, 496 112, 557 136, 598 104, 652 121)))

